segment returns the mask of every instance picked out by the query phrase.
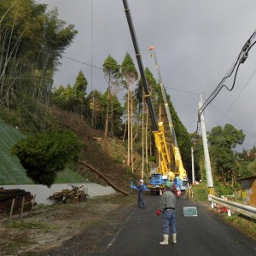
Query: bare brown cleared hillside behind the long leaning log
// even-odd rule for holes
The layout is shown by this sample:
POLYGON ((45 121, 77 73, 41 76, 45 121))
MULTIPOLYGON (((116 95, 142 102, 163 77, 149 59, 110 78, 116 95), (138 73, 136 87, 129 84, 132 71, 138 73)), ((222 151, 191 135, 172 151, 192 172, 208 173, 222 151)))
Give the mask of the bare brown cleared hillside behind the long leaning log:
MULTIPOLYGON (((123 189, 130 188, 130 181, 135 178, 126 165, 127 152, 122 140, 104 137, 102 131, 90 128, 83 119, 73 113, 61 111, 59 108, 51 108, 50 113, 55 117, 55 127, 70 129, 83 141, 84 148, 82 160, 101 172, 115 185, 123 189)), ((136 172, 140 172, 140 157, 134 156, 136 172)), ((79 174, 90 181, 105 184, 102 178, 95 172, 78 164, 76 168, 79 174)))

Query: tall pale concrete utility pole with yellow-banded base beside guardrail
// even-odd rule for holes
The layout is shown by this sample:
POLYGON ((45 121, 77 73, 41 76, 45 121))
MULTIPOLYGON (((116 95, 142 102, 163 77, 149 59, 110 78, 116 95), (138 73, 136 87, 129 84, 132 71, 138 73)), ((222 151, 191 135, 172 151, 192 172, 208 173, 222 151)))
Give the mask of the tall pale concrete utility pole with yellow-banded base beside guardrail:
POLYGON ((201 136, 202 136, 202 142, 203 142, 203 148, 204 148, 204 154, 205 154, 205 166, 207 171, 208 194, 213 195, 214 189, 213 189, 213 181, 212 181, 211 162, 210 162, 208 143, 207 143, 206 125, 205 125, 204 116, 200 110, 202 106, 202 97, 201 97, 201 102, 198 103, 198 106, 199 106, 199 114, 200 114, 200 122, 201 122, 201 136))

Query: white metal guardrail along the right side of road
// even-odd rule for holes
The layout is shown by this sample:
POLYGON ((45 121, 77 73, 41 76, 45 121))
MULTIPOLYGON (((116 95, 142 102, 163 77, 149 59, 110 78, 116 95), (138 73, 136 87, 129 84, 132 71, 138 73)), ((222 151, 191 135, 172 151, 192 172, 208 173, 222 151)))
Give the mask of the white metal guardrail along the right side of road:
POLYGON ((256 208, 255 207, 248 207, 246 205, 242 205, 239 203, 236 203, 234 201, 227 201, 222 198, 208 195, 208 200, 212 201, 213 203, 216 203, 222 207, 227 207, 230 210, 233 210, 234 212, 239 212, 242 215, 245 215, 250 218, 256 219, 256 208))

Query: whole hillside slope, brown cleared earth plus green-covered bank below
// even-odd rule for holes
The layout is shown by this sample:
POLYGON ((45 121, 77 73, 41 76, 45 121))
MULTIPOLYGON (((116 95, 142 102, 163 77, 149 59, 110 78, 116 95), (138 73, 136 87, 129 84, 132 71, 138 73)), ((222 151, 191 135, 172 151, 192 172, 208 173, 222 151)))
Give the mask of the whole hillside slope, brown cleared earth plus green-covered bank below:
MULTIPOLYGON (((55 129, 70 129, 83 141, 82 159, 90 166, 107 177, 112 183, 122 189, 130 188, 133 175, 128 170, 126 151, 122 141, 103 137, 102 131, 91 129, 83 119, 73 113, 50 108, 52 127, 55 129)), ((31 184, 32 180, 26 177, 26 171, 20 165, 15 155, 10 155, 10 148, 24 135, 15 127, 0 121, 0 185, 4 184, 31 184)), ((136 159, 139 159, 137 157, 136 159)), ((138 165, 137 165, 138 167, 138 165)), ((55 183, 85 183, 87 181, 106 184, 95 172, 79 164, 73 171, 60 172, 55 183), (74 172, 73 172, 74 171, 74 172)))

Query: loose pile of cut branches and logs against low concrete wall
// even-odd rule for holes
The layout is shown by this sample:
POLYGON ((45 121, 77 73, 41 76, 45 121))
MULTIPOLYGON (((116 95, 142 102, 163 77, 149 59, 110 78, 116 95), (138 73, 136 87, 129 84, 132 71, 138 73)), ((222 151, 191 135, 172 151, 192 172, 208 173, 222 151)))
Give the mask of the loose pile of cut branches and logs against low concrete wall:
POLYGON ((72 189, 62 189, 61 192, 55 192, 54 195, 49 196, 48 199, 63 203, 85 201, 88 195, 84 192, 84 189, 81 189, 84 186, 71 186, 72 189))

